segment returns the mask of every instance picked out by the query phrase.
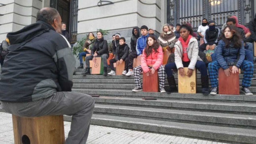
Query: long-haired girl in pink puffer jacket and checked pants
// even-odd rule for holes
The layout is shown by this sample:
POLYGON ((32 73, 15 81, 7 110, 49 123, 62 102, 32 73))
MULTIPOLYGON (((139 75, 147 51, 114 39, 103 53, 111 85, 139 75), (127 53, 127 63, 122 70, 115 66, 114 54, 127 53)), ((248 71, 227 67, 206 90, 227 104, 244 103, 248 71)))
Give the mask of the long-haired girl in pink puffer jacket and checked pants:
POLYGON ((141 83, 141 72, 143 70, 144 73, 148 76, 149 73, 154 74, 156 70, 158 70, 159 77, 159 87, 160 92, 166 92, 164 90, 164 82, 166 79, 166 71, 163 63, 163 51, 162 47, 156 41, 154 36, 148 36, 146 41, 146 48, 144 48, 142 57, 141 57, 141 65, 134 67, 134 80, 136 87, 132 90, 133 92, 142 91, 142 83, 141 83))

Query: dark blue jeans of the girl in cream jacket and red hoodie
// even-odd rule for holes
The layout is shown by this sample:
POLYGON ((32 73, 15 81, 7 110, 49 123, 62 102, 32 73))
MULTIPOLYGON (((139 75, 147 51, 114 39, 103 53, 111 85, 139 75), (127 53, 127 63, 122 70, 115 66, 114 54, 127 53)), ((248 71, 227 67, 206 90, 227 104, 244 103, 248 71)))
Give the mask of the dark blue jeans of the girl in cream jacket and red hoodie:
MULTIPOLYGON (((182 63, 183 63, 183 67, 188 67, 190 61, 188 61, 188 62, 182 61, 182 63)), ((171 77, 173 75, 171 69, 177 69, 175 62, 167 63, 165 67, 166 67, 167 77, 171 77)), ((205 65, 204 61, 196 61, 196 66, 195 67, 197 69, 200 69, 200 72, 201 72, 202 76, 207 76, 208 75, 207 74, 207 68, 206 68, 206 65, 205 65)))

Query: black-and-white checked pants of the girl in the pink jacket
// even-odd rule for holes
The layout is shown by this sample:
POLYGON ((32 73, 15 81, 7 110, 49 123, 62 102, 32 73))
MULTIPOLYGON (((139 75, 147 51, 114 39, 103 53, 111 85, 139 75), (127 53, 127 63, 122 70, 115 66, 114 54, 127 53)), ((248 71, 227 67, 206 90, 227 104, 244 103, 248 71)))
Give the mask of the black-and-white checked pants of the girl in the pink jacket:
MULTIPOLYGON (((152 68, 149 67, 148 68, 152 68)), ((134 73, 134 80, 135 80, 135 85, 137 88, 142 88, 142 83, 141 83, 141 72, 142 72, 141 65, 134 67, 133 68, 133 73, 134 73)), ((158 68, 158 77, 159 77, 159 88, 164 88, 164 82, 166 80, 166 71, 163 65, 160 65, 158 68)))

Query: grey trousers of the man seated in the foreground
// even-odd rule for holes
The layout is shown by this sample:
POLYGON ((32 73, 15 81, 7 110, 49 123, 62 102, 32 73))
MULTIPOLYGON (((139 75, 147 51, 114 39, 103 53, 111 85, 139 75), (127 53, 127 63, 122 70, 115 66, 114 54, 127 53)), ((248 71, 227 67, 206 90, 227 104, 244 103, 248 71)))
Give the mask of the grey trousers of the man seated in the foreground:
POLYGON ((56 92, 53 96, 33 102, 2 102, 2 108, 8 113, 21 117, 72 115, 71 127, 65 144, 86 144, 94 99, 87 94, 56 92))

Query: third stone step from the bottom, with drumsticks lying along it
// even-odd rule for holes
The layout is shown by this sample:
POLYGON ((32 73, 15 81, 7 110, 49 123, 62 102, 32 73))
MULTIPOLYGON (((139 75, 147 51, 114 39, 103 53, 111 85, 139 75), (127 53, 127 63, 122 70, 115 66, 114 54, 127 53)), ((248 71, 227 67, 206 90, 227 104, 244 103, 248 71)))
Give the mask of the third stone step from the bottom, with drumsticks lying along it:
MULTIPOLYGON (((200 102, 186 100, 142 100, 141 98, 104 97, 94 98, 96 104, 136 106, 144 108, 180 109, 219 113, 256 115, 256 104, 228 102, 200 102)), ((140 108, 138 108, 140 109, 140 108)))

